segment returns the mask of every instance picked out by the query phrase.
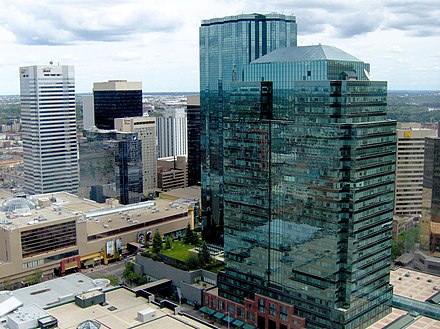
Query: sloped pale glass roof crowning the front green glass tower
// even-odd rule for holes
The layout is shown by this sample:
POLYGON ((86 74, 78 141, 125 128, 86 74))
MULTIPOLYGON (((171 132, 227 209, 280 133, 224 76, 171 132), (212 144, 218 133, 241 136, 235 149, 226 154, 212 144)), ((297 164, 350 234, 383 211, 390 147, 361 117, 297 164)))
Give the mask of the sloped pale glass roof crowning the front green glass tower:
POLYGON ((253 64, 274 62, 304 62, 304 61, 347 61, 362 62, 339 48, 326 45, 278 48, 254 60, 253 64))

